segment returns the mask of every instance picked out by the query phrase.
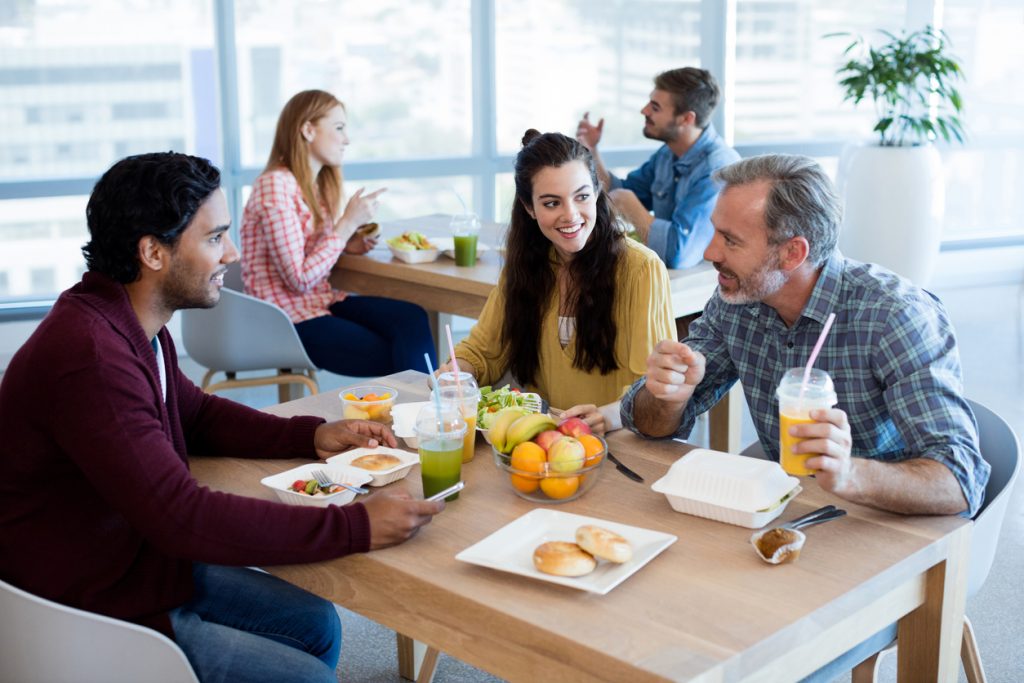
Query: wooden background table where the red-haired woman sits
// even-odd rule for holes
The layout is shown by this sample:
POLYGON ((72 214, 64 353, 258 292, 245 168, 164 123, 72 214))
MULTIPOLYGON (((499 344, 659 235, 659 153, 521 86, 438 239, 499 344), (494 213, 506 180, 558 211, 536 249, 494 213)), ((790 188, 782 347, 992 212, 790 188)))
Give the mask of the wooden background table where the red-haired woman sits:
MULTIPOLYGON (((386 222, 381 228, 385 239, 406 230, 417 230, 428 237, 446 237, 450 234, 450 219, 445 214, 432 214, 386 222)), ((437 348, 443 349, 446 345, 442 332, 445 316, 479 317, 487 296, 498 284, 504 265, 503 252, 498 247, 505 244, 505 226, 484 222, 480 243, 490 249, 479 254, 475 266, 460 267, 455 260, 443 255, 433 263, 404 263, 394 258, 381 241, 377 249, 364 256, 343 254, 331 272, 331 284, 348 292, 401 299, 422 306, 430 317, 437 348)), ((669 281, 672 286, 672 311, 677 318, 703 310, 718 287, 717 272, 708 262, 692 268, 669 270, 669 281)), ((446 354, 442 352, 440 355, 446 354)), ((709 431, 713 449, 738 453, 743 447, 740 442, 741 410, 742 396, 736 384, 710 414, 709 431)))

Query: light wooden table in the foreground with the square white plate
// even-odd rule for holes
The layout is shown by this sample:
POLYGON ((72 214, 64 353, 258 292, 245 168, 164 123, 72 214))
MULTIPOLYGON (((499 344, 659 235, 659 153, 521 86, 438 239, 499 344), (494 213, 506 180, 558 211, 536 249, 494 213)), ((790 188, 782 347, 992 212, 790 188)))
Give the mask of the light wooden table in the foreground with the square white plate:
MULTIPOLYGON (((419 373, 384 378, 402 400, 419 373)), ((269 412, 337 418, 334 393, 269 412)), ((809 529, 795 564, 755 556, 751 529, 674 512, 648 487, 687 446, 612 434, 646 479, 607 466, 559 510, 675 533, 679 541, 604 596, 459 562, 455 555, 537 507, 518 498, 478 440, 460 500, 410 542, 272 573, 511 681, 787 681, 899 620, 902 680, 955 681, 972 524, 901 517, 840 501, 814 482, 781 519, 837 503, 849 515, 809 529)), ((259 485, 294 461, 194 459, 214 488, 272 499, 259 485)), ((418 468, 392 486, 421 493, 418 468)))

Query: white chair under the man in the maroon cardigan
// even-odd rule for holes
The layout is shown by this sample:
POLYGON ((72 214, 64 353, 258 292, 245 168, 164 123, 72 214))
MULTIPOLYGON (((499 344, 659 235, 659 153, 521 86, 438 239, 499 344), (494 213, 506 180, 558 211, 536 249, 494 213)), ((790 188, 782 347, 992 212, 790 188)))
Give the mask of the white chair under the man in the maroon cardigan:
POLYGON ((167 636, 0 581, 0 681, 199 683, 167 636))

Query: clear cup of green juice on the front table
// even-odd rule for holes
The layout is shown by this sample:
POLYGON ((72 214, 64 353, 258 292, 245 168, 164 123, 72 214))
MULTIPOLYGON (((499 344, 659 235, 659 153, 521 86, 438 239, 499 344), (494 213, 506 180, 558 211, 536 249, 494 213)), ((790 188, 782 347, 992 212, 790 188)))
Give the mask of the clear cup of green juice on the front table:
MULTIPOLYGON (((461 411, 452 403, 441 405, 439 417, 433 402, 424 405, 416 417, 424 498, 444 490, 462 478, 462 442, 466 421, 461 411)), ((458 493, 444 500, 454 501, 457 498, 458 493)))

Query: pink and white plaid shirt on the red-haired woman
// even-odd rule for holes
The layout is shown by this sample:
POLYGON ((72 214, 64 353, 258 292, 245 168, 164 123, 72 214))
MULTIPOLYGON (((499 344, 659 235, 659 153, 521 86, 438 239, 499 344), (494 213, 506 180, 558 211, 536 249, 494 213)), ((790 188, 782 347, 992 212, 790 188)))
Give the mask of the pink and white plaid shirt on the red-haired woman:
MULTIPOLYGON (((325 220, 330 224, 326 212, 325 220)), ((345 242, 330 228, 314 234, 312 211, 288 169, 256 178, 241 238, 246 292, 281 306, 292 323, 328 315, 328 306, 345 298, 327 282, 345 242)))

